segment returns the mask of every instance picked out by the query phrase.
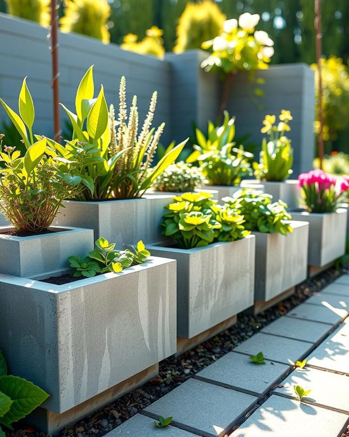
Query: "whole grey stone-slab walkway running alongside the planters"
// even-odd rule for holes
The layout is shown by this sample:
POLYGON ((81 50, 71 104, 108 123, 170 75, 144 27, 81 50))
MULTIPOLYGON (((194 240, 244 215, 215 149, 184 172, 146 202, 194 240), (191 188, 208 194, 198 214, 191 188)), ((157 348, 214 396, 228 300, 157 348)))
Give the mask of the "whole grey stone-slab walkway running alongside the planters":
POLYGON ((107 436, 341 436, 349 422, 348 315, 343 275, 107 436), (260 351, 265 365, 249 359, 260 351), (296 385, 311 389, 302 403, 296 385), (160 416, 172 416, 171 425, 157 428, 160 416))

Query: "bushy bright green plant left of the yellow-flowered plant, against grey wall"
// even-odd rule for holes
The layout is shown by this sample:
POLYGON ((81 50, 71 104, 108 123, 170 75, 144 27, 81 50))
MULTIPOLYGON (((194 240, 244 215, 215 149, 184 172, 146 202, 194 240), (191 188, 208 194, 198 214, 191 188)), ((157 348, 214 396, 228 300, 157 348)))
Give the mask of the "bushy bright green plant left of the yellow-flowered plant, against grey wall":
POLYGON ((209 185, 239 185, 242 178, 252 174, 249 160, 253 154, 243 147, 235 148, 232 142, 235 136, 235 118, 229 118, 224 111, 222 126, 215 127, 208 121, 208 135, 196 128, 198 144, 187 162, 198 161, 209 185))

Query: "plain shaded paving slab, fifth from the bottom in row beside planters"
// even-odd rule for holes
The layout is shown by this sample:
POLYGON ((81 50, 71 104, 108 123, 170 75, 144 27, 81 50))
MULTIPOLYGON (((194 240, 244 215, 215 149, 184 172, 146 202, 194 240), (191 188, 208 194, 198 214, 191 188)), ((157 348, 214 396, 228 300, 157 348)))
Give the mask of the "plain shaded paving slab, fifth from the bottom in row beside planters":
POLYGON ((325 323, 283 316, 265 326, 261 329, 261 332, 317 343, 328 334, 332 326, 325 323))

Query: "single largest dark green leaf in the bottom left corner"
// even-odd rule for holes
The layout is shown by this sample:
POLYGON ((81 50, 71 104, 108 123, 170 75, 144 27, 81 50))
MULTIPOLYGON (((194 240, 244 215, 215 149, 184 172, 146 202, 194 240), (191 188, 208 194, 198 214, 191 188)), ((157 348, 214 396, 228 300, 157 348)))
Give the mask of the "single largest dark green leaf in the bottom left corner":
POLYGON ((1 376, 0 391, 13 401, 9 411, 0 418, 0 423, 9 428, 11 423, 26 417, 48 398, 44 390, 19 376, 1 376))

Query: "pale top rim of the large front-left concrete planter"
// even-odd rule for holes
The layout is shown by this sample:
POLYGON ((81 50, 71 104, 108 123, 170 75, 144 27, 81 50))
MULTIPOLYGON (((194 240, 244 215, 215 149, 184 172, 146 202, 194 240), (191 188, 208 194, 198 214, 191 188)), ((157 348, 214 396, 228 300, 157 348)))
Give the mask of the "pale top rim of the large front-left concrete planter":
POLYGON ((138 264, 137 266, 128 267, 127 269, 121 271, 120 273, 108 272, 101 275, 93 276, 92 278, 83 278, 78 281, 69 282, 67 284, 56 285, 49 284, 48 282, 42 282, 35 279, 20 278, 18 276, 0 274, 0 284, 13 284, 16 286, 23 286, 27 288, 34 288, 38 291, 46 291, 53 294, 60 294, 64 291, 74 290, 76 288, 81 288, 84 286, 89 286, 92 284, 97 284, 100 282, 108 281, 109 279, 117 279, 119 276, 131 275, 135 272, 152 269, 153 267, 162 266, 165 264, 173 263, 175 260, 170 258, 161 258, 159 256, 149 257, 149 261, 143 264, 138 264))

